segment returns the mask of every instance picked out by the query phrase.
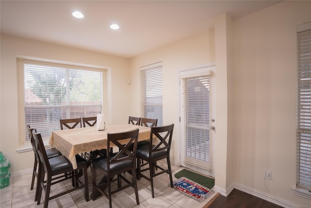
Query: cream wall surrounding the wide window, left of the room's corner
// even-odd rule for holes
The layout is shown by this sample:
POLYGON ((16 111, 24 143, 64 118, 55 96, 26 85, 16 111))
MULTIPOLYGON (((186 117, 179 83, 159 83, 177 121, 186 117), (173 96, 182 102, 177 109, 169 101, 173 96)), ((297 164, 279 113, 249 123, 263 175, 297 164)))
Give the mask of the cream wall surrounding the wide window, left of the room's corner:
MULTIPOLYGON (((108 123, 127 123, 129 107, 129 60, 75 48, 55 45, 30 39, 1 34, 1 82, 0 82, 0 150, 11 161, 11 172, 30 169, 34 163, 32 151, 17 153, 24 138, 18 138, 18 127, 24 128, 17 112, 17 57, 36 57, 78 64, 109 68, 108 85, 112 99, 108 112, 104 112, 108 123), (111 81, 113 80, 113 81, 111 81)), ((22 99, 22 98, 21 98, 22 99)), ((35 127, 34 127, 35 128, 35 127)))

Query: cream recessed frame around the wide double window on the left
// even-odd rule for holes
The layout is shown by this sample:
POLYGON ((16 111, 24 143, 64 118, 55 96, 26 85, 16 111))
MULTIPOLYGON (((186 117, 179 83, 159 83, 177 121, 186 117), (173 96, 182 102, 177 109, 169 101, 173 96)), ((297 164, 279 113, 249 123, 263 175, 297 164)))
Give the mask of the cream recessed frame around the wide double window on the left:
MULTIPOLYGON (((72 62, 64 62, 64 61, 57 61, 51 59, 40 59, 40 58, 30 58, 30 57, 17 57, 17 114, 18 114, 18 145, 17 152, 23 151, 31 151, 30 141, 27 140, 27 136, 25 137, 25 94, 24 94, 24 61, 28 63, 42 63, 42 65, 70 65, 75 69, 80 70, 90 70, 90 71, 98 71, 102 72, 102 107, 101 112, 107 111, 107 70, 108 68, 102 66, 95 66, 95 65, 88 65, 88 64, 81 64, 81 63, 72 63, 72 62)), ((46 147, 49 147, 48 144, 50 137, 43 138, 44 144, 46 147)))

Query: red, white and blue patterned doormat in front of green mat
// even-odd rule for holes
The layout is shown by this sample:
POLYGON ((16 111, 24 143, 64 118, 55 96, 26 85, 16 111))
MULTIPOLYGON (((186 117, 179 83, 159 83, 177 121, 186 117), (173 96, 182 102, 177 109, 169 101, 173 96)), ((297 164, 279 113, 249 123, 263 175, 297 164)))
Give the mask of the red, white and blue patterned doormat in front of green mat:
POLYGON ((199 202, 204 201, 208 196, 214 193, 213 190, 201 186, 186 177, 181 177, 174 181, 174 187, 181 193, 195 199, 199 202))

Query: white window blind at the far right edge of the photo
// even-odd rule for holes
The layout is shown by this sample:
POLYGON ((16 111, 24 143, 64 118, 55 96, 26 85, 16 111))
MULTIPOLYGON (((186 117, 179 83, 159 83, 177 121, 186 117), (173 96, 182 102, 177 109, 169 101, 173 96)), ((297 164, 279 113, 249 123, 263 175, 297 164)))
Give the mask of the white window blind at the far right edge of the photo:
POLYGON ((311 24, 297 28, 297 187, 311 190, 311 24))

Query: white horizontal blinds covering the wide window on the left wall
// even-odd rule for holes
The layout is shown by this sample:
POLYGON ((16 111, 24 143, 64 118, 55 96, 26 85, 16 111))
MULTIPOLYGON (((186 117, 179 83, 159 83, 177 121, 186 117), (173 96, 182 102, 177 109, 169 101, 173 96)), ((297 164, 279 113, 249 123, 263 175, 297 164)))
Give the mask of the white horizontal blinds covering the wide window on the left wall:
POLYGON ((60 129, 59 119, 101 113, 100 70, 30 60, 24 60, 23 67, 25 125, 37 129, 42 137, 49 138, 60 129))

